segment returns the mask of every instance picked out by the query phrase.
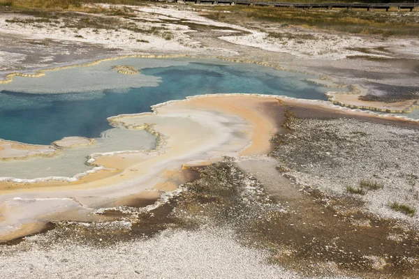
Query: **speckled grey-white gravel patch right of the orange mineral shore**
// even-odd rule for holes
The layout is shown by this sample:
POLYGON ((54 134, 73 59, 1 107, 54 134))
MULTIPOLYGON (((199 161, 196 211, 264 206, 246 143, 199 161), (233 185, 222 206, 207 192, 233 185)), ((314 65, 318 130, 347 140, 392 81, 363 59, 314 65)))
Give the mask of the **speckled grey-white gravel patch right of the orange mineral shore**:
POLYGON ((282 144, 271 155, 298 183, 353 195, 378 216, 419 226, 418 214, 407 216, 388 206, 398 202, 419 209, 418 130, 353 119, 297 120, 293 129, 279 137, 282 144), (348 193, 347 187, 360 189, 361 180, 383 188, 348 193))

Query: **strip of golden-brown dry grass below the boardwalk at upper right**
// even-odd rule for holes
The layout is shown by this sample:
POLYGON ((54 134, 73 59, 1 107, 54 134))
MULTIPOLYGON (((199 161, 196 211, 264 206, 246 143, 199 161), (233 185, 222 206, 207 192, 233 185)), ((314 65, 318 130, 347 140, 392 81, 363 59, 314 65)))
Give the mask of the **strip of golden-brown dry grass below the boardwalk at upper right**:
MULTIPOLYGON (((309 2, 314 2, 307 0, 309 2)), ((324 1, 323 1, 324 2, 324 1)), ((264 22, 299 25, 348 33, 379 34, 383 36, 419 36, 419 22, 414 15, 395 17, 391 13, 365 10, 302 10, 273 7, 217 6, 207 17, 224 22, 264 22), (230 11, 231 13, 222 13, 230 11)), ((397 9, 396 9, 397 10, 397 9)))

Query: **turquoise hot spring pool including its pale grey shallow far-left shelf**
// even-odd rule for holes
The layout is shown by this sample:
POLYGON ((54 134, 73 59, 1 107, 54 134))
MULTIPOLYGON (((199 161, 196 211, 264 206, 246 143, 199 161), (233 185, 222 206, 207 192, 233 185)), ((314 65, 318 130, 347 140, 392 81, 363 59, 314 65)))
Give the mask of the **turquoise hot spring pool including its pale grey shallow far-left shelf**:
POLYGON ((99 137, 106 118, 149 112, 150 106, 211 93, 261 93, 326 100, 309 75, 218 59, 118 59, 96 66, 15 77, 0 84, 0 138, 50 144, 67 136, 99 137), (122 75, 131 65, 140 75, 122 75))

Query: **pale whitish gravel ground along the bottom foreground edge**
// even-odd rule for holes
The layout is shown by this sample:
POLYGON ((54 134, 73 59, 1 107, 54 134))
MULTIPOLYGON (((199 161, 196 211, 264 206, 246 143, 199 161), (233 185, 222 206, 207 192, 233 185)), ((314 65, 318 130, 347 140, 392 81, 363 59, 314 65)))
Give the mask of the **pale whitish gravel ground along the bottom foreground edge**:
POLYGON ((39 237, 3 247, 1 278, 301 278, 264 263, 265 252, 240 246, 220 229, 166 230, 154 239, 104 248, 44 248, 39 237))

